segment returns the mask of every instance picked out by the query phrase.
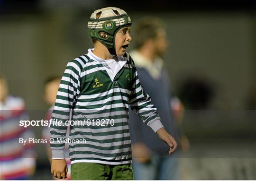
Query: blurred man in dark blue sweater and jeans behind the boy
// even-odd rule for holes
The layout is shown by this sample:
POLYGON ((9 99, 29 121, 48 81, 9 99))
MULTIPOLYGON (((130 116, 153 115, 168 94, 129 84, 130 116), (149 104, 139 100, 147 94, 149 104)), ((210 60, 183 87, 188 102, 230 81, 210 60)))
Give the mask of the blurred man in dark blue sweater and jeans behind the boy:
MULTIPOLYGON (((183 104, 171 96, 169 75, 162 59, 168 47, 164 23, 159 18, 144 17, 135 25, 134 36, 137 49, 130 55, 136 64, 141 85, 151 96, 167 132, 178 140, 178 145, 188 149, 188 140, 174 119, 176 116, 182 120, 183 104)), ((134 112, 130 110, 129 115, 134 179, 180 179, 178 152, 167 155, 168 146, 144 127, 134 112)))

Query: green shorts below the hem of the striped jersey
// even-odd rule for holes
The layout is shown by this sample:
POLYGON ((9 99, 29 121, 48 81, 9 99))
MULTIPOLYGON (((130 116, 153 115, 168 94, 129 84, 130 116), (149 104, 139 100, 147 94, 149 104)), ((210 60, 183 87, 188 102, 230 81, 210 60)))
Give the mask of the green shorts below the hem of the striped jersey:
POLYGON ((133 171, 131 163, 75 163, 71 165, 71 180, 133 180, 133 171))

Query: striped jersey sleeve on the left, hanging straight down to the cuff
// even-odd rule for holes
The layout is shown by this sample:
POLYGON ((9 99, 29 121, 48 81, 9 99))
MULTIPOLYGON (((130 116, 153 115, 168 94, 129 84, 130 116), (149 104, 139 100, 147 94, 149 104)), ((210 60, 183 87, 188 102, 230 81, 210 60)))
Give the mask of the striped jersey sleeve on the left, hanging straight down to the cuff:
POLYGON ((50 125, 50 147, 53 159, 64 158, 63 139, 66 138, 68 127, 65 122, 69 121, 70 112, 80 94, 81 71, 84 64, 85 62, 80 59, 69 62, 59 85, 50 125))

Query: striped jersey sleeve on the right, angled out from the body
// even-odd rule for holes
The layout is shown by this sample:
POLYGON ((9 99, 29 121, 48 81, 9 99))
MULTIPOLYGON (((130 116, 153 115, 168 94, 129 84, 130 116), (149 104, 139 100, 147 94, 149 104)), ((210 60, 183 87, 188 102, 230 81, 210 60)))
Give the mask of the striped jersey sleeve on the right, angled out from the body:
POLYGON ((129 99, 130 108, 144 123, 146 123, 146 125, 156 132, 158 129, 163 128, 164 126, 160 121, 159 114, 156 112, 155 105, 151 103, 150 96, 143 91, 134 61, 130 56, 128 56, 128 59, 132 64, 132 69, 134 72, 133 91, 129 99))

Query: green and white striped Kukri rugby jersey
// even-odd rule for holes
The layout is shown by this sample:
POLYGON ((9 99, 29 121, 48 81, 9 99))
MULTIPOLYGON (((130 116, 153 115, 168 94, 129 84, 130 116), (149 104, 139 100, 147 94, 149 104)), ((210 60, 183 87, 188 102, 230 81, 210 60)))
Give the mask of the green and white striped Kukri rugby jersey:
POLYGON ((112 80, 107 71, 110 68, 92 56, 90 49, 67 64, 50 127, 54 159, 64 158, 64 140, 70 124, 71 164, 130 163, 129 105, 155 132, 163 128, 151 98, 140 85, 132 58, 125 53, 115 59, 122 66, 112 80))

